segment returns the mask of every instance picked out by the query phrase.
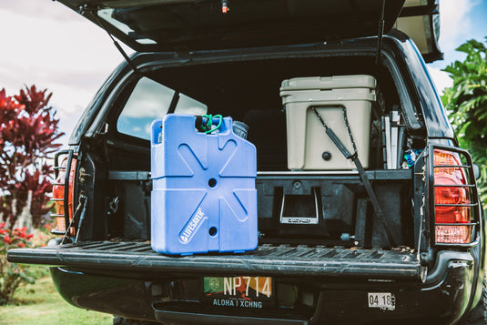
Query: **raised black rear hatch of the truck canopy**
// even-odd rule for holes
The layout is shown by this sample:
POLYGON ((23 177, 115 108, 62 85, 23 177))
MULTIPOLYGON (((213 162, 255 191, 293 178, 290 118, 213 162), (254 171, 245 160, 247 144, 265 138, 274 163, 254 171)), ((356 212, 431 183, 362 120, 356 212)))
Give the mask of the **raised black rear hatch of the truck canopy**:
MULTIPOLYGON (((336 41, 378 34, 383 0, 58 0, 138 52, 336 41)), ((384 33, 404 0, 384 1, 384 33)))

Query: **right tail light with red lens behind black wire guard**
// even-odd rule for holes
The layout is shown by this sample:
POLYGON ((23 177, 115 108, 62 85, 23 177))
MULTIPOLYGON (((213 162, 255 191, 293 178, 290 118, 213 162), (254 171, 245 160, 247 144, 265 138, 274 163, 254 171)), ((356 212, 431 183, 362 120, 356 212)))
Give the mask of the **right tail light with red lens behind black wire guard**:
POLYGON ((469 244, 474 240, 477 206, 471 166, 462 164, 459 152, 435 148, 433 169, 435 241, 469 244))

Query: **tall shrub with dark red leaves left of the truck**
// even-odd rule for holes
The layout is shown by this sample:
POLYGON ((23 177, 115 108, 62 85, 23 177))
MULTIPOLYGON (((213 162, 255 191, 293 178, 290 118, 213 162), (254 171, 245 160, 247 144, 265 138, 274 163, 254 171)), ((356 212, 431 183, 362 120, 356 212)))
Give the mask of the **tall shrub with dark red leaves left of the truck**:
POLYGON ((46 220, 52 190, 50 155, 61 144, 56 110, 48 106, 52 94, 25 87, 16 96, 0 90, 0 214, 14 227, 28 208, 34 226, 46 220))

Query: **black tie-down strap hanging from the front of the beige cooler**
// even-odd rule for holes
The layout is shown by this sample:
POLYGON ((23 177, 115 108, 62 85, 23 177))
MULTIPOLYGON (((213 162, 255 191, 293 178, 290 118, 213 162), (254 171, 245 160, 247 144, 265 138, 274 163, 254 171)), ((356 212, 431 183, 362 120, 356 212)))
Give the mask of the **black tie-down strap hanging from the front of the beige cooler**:
POLYGON ((323 118, 320 116, 320 113, 318 113, 318 110, 316 110, 315 107, 311 107, 313 112, 316 114, 318 119, 320 119, 321 125, 325 128, 325 132, 327 133, 328 137, 330 137, 331 141, 337 146, 340 150, 340 152, 345 156, 347 159, 351 159, 355 166, 357 167, 357 170, 359 171, 360 179, 363 182, 363 185, 365 187, 365 190, 367 191, 367 194, 369 195, 370 202, 372 203, 372 207, 374 208, 375 212, 375 217, 379 219, 380 223, 384 227, 384 230, 386 232, 386 239, 389 244, 389 246, 394 247, 394 239, 392 237, 391 231, 387 227, 386 220, 384 218, 384 213, 382 212, 382 209, 380 208, 379 200, 377 199, 375 192, 370 185, 369 178, 367 178, 367 175, 365 174, 365 170, 362 167, 362 164, 360 163, 360 159, 358 156, 357 152, 357 146, 355 145, 355 141, 353 140, 353 136, 351 134, 350 130, 350 125, 349 125, 349 118, 347 117, 347 109, 343 107, 343 119, 345 120, 345 126, 347 127, 347 131, 349 132, 349 137, 351 141, 351 145, 353 146, 353 154, 350 154, 350 151, 343 142, 341 142, 340 138, 337 136, 333 130, 328 127, 323 120, 323 118))

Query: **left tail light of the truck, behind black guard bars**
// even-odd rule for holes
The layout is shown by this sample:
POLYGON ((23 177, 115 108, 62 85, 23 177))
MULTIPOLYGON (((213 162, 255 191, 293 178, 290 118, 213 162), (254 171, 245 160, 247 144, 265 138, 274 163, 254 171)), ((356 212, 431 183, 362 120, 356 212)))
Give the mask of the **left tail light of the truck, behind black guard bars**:
MULTIPOLYGON (((66 229, 73 220, 74 207, 74 178, 76 172, 76 159, 73 159, 72 151, 61 152, 55 158, 56 181, 53 184, 53 198, 55 203, 55 214, 51 216, 56 218, 56 229, 51 230, 56 235, 65 235, 66 229), (60 161, 60 163, 58 163, 60 161), (66 170, 69 172, 66 174, 66 170), (66 187, 67 185, 67 187, 66 187), (67 203, 67 208, 65 205, 67 203)), ((71 227, 69 234, 74 235, 75 229, 71 227)))

